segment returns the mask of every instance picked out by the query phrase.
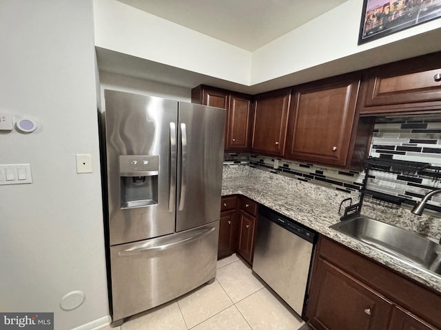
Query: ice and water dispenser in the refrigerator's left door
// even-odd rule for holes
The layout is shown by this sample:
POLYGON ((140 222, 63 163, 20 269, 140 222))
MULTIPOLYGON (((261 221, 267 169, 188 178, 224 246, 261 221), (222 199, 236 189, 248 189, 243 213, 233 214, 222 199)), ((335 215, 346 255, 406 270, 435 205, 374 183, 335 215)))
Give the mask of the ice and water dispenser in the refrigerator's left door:
POLYGON ((158 203, 158 155, 119 156, 121 208, 158 203))

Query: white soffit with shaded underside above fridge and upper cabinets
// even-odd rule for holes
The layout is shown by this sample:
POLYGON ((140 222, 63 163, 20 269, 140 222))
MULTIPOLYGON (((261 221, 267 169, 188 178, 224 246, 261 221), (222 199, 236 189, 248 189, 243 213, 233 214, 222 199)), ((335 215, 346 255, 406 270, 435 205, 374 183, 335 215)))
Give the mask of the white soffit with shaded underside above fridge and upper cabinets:
MULTIPOLYGON (((162 1, 169 6, 176 2, 94 0, 95 49, 101 72, 189 89, 203 84, 245 94, 258 94, 441 51, 441 43, 433 42, 441 39, 441 19, 358 46, 360 19, 347 15, 348 12, 361 10, 362 1, 358 0, 340 0, 342 4, 334 9, 296 28, 294 33, 289 32, 254 52, 212 37, 204 38, 200 32, 126 4, 162 1), (347 20, 342 20, 341 17, 346 17, 347 20), (314 36, 308 37, 309 31, 315 29, 316 34, 313 35, 317 36, 317 32, 322 26, 327 26, 327 22, 339 19, 344 23, 340 24, 339 31, 348 30, 347 25, 350 23, 350 34, 329 33, 322 36, 321 42, 304 43, 305 40, 314 39, 314 36), (146 29, 151 30, 144 31, 142 24, 146 24, 146 29), (333 43, 330 44, 328 39, 333 43), (175 49, 175 43, 181 46, 191 44, 192 47, 175 49), (176 51, 177 49, 179 50, 176 51)), ((197 1, 204 2, 204 5, 212 2, 181 2, 196 5, 197 1)), ((229 0, 218 2, 227 3, 226 1, 229 0)), ((242 1, 258 3, 263 0, 236 2, 242 1)), ((280 0, 280 3, 283 1, 285 0, 280 0)), ((316 0, 311 0, 313 1, 316 0)), ((291 2, 296 3, 297 0, 291 2)), ((198 8, 196 11, 209 12, 213 8, 205 5, 203 9, 198 8)))

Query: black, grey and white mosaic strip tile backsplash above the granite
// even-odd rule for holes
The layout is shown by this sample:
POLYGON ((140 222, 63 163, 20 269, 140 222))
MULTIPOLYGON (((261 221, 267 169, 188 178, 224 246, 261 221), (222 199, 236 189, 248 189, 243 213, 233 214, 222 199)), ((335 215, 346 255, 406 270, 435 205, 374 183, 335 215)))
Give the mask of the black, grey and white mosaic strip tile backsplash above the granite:
MULTIPOLYGON (((438 118, 433 115, 382 118, 375 124, 369 155, 441 166, 441 115, 438 118)), ((343 170, 253 153, 225 153, 224 166, 250 166, 357 196, 365 179, 364 171, 343 170)), ((420 201, 430 190, 441 188, 440 180, 370 170, 367 188, 413 203, 420 201)), ((441 211, 441 194, 432 198, 429 208, 441 211)))

